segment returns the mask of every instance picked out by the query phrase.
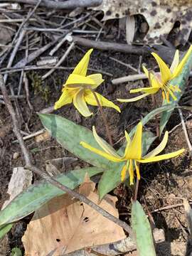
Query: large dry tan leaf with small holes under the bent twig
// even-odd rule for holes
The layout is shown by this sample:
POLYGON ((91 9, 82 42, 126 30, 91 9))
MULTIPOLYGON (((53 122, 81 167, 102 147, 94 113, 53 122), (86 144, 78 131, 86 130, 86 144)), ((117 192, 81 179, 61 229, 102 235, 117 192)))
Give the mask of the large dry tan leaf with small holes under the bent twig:
MULTIPOLYGON (((98 203, 95 183, 85 180, 79 188, 91 201, 98 203)), ((118 217, 117 198, 107 195, 100 207, 118 217)), ((80 201, 64 195, 54 198, 36 211, 22 241, 26 255, 54 256, 73 252, 84 247, 103 245, 125 238, 124 231, 112 221, 80 201), (35 238, 35 239, 34 239, 35 238)))

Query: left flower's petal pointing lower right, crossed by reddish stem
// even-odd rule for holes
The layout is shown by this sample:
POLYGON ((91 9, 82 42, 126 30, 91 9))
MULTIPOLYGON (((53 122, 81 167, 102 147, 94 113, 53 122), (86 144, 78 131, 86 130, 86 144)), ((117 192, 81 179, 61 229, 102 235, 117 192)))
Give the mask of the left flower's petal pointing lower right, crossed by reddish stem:
MULTIPOLYGON (((102 95, 100 95, 97 92, 95 92, 95 94, 97 95, 97 99, 99 100, 100 105, 102 107, 112 107, 115 110, 117 110, 118 112, 121 112, 119 107, 117 105, 115 105, 113 102, 111 102, 110 100, 107 100, 105 97, 103 97, 102 95)), ((95 96, 93 95, 91 90, 86 90, 85 101, 92 106, 97 106, 97 100, 95 99, 95 96)))

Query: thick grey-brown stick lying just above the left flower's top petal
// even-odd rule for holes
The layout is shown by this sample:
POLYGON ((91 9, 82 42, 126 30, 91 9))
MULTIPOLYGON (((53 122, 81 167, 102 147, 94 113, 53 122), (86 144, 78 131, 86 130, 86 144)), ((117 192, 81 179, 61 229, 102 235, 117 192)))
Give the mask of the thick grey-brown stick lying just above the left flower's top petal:
POLYGON ((85 46, 89 48, 95 48, 99 50, 116 50, 122 53, 134 53, 137 55, 146 54, 146 49, 142 46, 130 46, 125 43, 108 43, 104 41, 94 41, 85 38, 80 38, 79 36, 72 36, 75 43, 80 46, 85 46))

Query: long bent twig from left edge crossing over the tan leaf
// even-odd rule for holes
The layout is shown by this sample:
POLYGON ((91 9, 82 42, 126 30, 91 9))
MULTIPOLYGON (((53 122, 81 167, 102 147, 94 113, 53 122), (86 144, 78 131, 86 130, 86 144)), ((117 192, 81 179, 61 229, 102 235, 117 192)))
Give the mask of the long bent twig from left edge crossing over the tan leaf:
POLYGON ((124 223, 122 220, 119 220, 118 218, 114 217, 114 215, 111 215, 110 213, 107 213, 106 210, 102 209, 100 206, 97 206, 97 204, 93 203, 90 201, 88 198, 85 196, 81 195, 80 193, 71 190, 70 188, 66 187, 62 183, 58 182, 55 180, 55 178, 51 177, 49 174, 47 174, 44 171, 41 171, 41 169, 38 169, 36 166, 31 165, 31 158, 28 149, 26 148, 26 145, 24 143, 23 137, 21 136, 21 132, 18 129, 18 122, 17 122, 17 116, 16 113, 14 112, 14 108, 11 104, 11 101, 9 100, 9 97, 6 92, 6 86, 4 84, 4 78, 2 75, 0 75, 0 88, 1 92, 4 95, 4 101, 6 103, 6 107, 9 110, 9 113, 11 114, 12 121, 14 123, 14 134, 16 135, 18 142, 21 146, 21 151, 23 153, 25 162, 26 162, 26 169, 33 171, 34 173, 38 174, 41 176, 43 179, 51 183, 53 186, 56 186, 57 188, 60 188, 60 190, 65 191, 68 193, 70 196, 73 196, 83 203, 86 203, 88 206, 92 207, 94 210, 97 210, 98 213, 102 214, 105 218, 112 220, 112 222, 116 223, 120 227, 122 227, 124 230, 129 233, 130 237, 133 237, 132 235, 132 228, 127 225, 127 223, 124 223))

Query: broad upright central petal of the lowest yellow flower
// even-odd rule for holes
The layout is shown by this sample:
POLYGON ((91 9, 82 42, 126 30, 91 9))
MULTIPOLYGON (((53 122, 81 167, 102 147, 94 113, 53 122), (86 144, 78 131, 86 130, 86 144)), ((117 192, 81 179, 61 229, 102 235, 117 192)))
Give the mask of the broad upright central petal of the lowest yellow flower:
POLYGON ((127 149, 126 159, 141 159, 142 158, 142 122, 137 124, 137 129, 132 142, 127 149))

